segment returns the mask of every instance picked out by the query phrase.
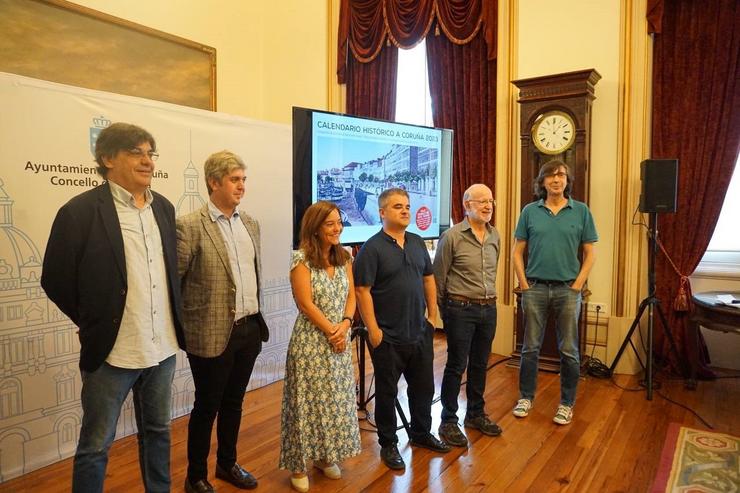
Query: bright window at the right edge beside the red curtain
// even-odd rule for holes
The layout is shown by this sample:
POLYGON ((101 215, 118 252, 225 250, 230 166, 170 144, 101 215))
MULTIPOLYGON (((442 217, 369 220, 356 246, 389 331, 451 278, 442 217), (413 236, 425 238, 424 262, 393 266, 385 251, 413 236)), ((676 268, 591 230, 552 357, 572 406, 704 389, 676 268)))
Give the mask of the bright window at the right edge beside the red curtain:
MULTIPOLYGON (((740 157, 738 161, 740 162, 740 157)), ((738 216, 740 216, 740 166, 736 162, 717 226, 707 251, 699 263, 697 274, 704 277, 712 275, 740 277, 738 216)))

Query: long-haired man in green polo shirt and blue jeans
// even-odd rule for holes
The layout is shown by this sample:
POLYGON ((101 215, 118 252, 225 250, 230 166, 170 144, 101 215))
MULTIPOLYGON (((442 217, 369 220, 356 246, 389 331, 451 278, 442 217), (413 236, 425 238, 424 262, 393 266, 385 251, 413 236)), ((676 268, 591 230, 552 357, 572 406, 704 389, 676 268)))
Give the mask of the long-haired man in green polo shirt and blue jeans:
POLYGON ((534 184, 540 200, 527 204, 514 232, 514 272, 522 289, 524 341, 519 367, 520 399, 514 416, 529 414, 537 389, 537 363, 549 314, 557 320, 560 405, 553 421, 567 425, 580 377, 578 318, 581 290, 594 265, 599 236, 586 204, 570 198, 573 180, 562 161, 540 169, 534 184), (578 249, 583 251, 579 260, 578 249), (527 251, 526 272, 524 251, 527 251))

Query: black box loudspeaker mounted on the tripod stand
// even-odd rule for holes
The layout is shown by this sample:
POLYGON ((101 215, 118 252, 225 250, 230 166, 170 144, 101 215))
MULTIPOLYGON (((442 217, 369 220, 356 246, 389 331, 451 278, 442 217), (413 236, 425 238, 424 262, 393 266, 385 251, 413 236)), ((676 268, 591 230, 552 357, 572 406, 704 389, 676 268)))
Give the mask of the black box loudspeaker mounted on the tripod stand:
POLYGON ((646 159, 640 179, 640 212, 676 212, 678 159, 646 159))

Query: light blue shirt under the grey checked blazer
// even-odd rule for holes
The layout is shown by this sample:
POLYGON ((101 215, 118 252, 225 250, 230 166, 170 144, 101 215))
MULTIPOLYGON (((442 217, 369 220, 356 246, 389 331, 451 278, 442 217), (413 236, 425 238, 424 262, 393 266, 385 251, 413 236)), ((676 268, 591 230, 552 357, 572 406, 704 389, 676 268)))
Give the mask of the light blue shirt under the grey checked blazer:
POLYGON ((257 298, 257 270, 255 268, 255 250, 252 237, 249 236, 244 222, 235 210, 231 217, 226 217, 213 202, 208 201, 208 214, 211 221, 218 224, 229 254, 229 266, 236 284, 236 313, 234 320, 259 311, 257 298))

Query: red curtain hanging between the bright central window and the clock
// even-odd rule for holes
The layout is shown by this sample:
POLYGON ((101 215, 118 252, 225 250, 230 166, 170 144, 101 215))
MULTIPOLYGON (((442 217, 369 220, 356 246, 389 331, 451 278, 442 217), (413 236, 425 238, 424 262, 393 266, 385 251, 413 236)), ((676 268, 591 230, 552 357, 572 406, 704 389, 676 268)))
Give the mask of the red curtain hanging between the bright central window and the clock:
POLYGON ((455 131, 452 217, 463 219, 462 196, 473 183, 495 190, 496 62, 487 59, 479 34, 458 45, 427 36, 429 89, 434 124, 455 131))

